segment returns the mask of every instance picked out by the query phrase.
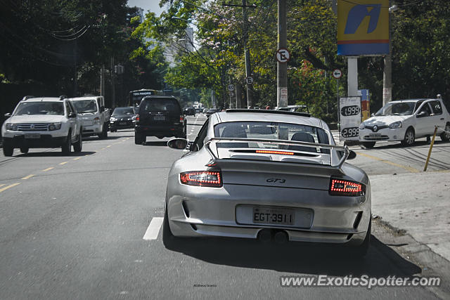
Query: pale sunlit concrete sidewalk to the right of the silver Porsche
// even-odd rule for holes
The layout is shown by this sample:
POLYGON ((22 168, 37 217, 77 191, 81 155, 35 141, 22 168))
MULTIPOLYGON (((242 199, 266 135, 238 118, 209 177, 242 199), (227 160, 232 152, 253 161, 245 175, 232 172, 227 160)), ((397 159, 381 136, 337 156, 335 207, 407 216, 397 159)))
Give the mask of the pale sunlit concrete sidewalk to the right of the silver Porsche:
POLYGON ((450 171, 369 177, 372 214, 450 261, 450 171))

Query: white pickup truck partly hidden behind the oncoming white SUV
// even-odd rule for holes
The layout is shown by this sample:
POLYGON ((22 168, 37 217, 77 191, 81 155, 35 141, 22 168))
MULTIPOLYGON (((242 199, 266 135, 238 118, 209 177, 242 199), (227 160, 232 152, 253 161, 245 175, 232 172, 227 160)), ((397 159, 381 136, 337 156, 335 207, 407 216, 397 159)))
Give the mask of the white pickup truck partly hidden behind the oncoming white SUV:
POLYGON ((86 96, 70 98, 82 119, 83 136, 108 138, 110 111, 105 108, 103 96, 86 96))

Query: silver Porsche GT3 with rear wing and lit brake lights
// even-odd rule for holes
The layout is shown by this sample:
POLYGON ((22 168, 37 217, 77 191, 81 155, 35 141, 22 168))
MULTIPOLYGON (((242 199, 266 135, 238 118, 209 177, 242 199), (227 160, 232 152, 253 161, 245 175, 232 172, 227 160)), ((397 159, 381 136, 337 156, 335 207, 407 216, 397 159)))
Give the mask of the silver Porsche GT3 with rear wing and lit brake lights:
MULTIPOLYGON (((175 138, 169 147, 184 149, 175 138)), ((371 184, 325 122, 300 112, 211 115, 167 181, 163 242, 179 237, 349 244, 367 252, 371 184)))

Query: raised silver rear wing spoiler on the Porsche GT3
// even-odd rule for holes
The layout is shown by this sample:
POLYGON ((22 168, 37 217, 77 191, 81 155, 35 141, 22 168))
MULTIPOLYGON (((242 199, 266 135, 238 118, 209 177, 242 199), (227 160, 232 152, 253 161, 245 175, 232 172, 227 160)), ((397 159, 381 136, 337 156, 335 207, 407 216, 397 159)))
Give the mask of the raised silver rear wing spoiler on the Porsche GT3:
MULTIPOLYGON (((321 144, 321 143, 309 143, 303 141, 286 141, 286 140, 272 140, 269 138, 211 138, 209 141, 205 143, 205 148, 207 152, 210 153, 213 161, 219 159, 217 155, 214 154, 214 151, 211 150, 210 145, 212 143, 217 142, 261 142, 261 143, 272 143, 277 145, 303 145, 303 146, 311 146, 314 148, 328 149, 330 150, 330 167, 334 167, 340 169, 342 164, 344 164, 345 160, 349 157, 350 150, 347 145, 339 146, 339 145, 329 145, 329 144, 321 144), (335 155, 333 155, 333 150, 336 152, 343 152, 342 157, 337 159, 335 155), (334 158, 333 158, 334 157, 334 158)), ((297 152, 296 150, 289 150, 290 152, 297 152)))

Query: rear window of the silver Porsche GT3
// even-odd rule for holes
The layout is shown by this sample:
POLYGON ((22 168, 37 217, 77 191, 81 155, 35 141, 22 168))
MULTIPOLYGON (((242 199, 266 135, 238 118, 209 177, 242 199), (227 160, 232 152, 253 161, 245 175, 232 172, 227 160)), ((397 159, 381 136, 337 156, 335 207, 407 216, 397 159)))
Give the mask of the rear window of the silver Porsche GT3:
MULTIPOLYGON (((329 144, 328 134, 321 128, 302 124, 276 122, 226 122, 214 126, 217 138, 264 138, 269 140, 303 141, 329 144)), ((222 143, 224 148, 240 148, 238 143, 222 143), (232 144, 232 145, 231 145, 232 144)), ((284 145, 255 143, 252 148, 283 148, 284 145)), ((315 148, 289 146, 290 150, 316 152, 315 148)))

